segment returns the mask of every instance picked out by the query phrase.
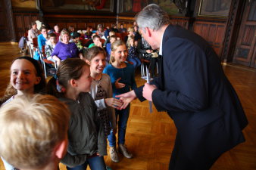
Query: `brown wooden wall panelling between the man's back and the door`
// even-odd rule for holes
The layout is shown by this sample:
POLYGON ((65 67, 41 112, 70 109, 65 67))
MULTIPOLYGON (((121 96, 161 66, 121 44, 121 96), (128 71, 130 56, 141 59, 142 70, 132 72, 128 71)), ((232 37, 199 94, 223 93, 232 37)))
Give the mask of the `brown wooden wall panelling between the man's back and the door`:
POLYGON ((224 34, 226 30, 225 23, 195 21, 193 30, 199 36, 204 38, 214 48, 214 51, 221 57, 224 34))

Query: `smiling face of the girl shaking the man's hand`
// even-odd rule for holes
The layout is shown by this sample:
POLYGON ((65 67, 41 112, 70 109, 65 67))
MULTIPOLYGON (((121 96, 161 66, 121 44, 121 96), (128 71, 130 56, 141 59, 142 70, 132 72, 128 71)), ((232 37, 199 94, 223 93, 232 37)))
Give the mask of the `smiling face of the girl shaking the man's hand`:
POLYGON ((90 61, 91 73, 102 73, 105 66, 106 66, 106 60, 105 60, 104 54, 102 53, 99 53, 90 61))

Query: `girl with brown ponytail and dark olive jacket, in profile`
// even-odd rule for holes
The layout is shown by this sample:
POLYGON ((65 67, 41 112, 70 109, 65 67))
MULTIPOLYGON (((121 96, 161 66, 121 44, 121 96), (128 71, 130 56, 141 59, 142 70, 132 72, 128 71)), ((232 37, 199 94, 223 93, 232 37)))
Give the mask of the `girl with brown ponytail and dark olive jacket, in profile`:
POLYGON ((67 170, 105 170, 106 138, 97 107, 89 94, 92 78, 89 65, 79 58, 68 58, 58 66, 57 79, 48 82, 48 94, 59 97, 70 109, 69 144, 62 163, 67 170))

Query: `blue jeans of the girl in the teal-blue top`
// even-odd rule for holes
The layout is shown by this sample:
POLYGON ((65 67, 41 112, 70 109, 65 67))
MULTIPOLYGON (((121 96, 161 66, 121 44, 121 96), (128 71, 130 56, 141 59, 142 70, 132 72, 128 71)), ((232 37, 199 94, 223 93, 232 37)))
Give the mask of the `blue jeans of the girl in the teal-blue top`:
MULTIPOLYGON (((130 104, 124 110, 115 110, 116 119, 118 119, 118 144, 125 144, 125 134, 126 134, 126 125, 130 114, 130 104)), ((116 146, 116 136, 111 131, 111 134, 108 135, 109 146, 116 146)))

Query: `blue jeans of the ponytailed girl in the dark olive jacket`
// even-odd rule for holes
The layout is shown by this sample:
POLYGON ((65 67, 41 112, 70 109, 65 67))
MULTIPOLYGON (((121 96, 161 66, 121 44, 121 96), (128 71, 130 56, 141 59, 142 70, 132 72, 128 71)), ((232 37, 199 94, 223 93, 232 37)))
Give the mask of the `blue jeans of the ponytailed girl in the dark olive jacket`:
POLYGON ((103 156, 95 156, 89 158, 82 165, 78 165, 73 168, 67 167, 67 170, 86 170, 87 165, 89 165, 91 170, 106 170, 106 165, 103 156))

